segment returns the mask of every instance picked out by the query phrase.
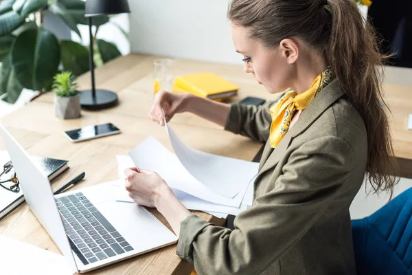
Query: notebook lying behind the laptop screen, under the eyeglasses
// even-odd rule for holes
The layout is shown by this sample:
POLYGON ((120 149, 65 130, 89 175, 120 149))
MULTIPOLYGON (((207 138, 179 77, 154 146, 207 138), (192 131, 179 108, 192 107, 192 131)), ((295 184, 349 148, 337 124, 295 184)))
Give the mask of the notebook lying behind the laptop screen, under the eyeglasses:
MULTIPOLYGON (((69 168, 67 160, 54 159, 49 157, 32 156, 36 164, 41 167, 52 181, 69 168)), ((0 151, 0 171, 3 165, 10 160, 7 151, 0 151)), ((17 175, 19 177, 19 175, 17 175)), ((23 192, 10 192, 0 186, 0 220, 24 202, 23 192)))

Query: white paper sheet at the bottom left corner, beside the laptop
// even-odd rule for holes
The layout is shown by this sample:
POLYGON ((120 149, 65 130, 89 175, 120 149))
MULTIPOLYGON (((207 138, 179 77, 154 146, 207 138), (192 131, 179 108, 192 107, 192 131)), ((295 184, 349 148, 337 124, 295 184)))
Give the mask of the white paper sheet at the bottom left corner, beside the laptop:
POLYGON ((73 275, 77 271, 65 257, 0 235, 1 274, 73 275))

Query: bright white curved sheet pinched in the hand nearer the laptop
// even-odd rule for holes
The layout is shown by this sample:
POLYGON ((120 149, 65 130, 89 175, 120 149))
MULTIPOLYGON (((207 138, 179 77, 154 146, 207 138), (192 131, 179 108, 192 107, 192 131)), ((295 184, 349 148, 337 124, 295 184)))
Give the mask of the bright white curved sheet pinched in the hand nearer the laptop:
MULTIPOLYGON (((141 169, 154 170, 157 172, 166 183, 171 187, 178 190, 182 190, 187 194, 193 195, 205 201, 210 201, 225 206, 233 206, 238 208, 244 193, 247 190, 247 184, 253 181, 253 177, 258 173, 258 164, 249 163, 250 171, 254 170, 254 174, 249 177, 245 177, 243 181, 247 182, 247 178, 250 179, 247 184, 242 184, 244 187, 233 198, 225 197, 223 195, 213 192, 207 186, 201 184, 190 173, 187 172, 185 167, 179 162, 176 155, 173 155, 168 149, 166 149, 155 137, 148 137, 141 142, 132 151, 129 152, 130 157, 133 159, 135 166, 141 169)), ((222 183, 224 181, 220 181, 222 183)))

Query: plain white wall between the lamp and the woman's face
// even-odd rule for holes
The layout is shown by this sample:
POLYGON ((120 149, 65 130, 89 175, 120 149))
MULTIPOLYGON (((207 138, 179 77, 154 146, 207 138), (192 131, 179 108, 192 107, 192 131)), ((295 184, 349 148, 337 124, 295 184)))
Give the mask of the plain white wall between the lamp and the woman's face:
POLYGON ((130 0, 132 52, 241 63, 231 41, 228 0, 130 0))

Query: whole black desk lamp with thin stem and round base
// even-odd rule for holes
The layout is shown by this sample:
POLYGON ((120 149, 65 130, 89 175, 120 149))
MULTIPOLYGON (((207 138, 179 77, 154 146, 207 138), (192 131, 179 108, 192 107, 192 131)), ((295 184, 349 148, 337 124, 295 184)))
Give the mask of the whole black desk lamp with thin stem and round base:
POLYGON ((115 106, 117 94, 113 91, 95 89, 94 61, 93 61, 93 35, 91 33, 92 17, 100 15, 129 13, 127 0, 87 0, 84 17, 89 19, 89 63, 91 72, 91 89, 82 91, 80 104, 84 109, 100 110, 115 106))

